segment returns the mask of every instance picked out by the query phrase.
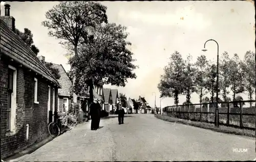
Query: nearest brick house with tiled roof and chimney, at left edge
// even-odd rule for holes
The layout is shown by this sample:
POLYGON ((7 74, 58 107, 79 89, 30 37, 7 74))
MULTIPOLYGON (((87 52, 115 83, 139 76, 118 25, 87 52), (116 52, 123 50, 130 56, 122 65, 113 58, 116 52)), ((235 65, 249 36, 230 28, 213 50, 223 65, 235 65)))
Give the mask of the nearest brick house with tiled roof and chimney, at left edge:
POLYGON ((1 158, 5 159, 49 135, 57 110, 58 88, 50 71, 13 31, 10 5, 1 16, 1 158))

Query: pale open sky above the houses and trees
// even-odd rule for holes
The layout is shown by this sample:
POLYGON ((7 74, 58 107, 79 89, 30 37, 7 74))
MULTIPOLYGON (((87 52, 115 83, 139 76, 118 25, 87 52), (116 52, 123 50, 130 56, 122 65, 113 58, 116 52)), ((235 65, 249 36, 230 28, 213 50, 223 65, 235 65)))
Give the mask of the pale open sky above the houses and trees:
MULTIPOLYGON (((41 25, 46 20, 45 13, 59 2, 6 2, 11 5, 10 15, 15 18, 15 26, 23 31, 28 28, 33 33, 34 44, 39 48, 38 56, 45 56, 47 62, 62 64, 70 70, 66 49, 60 40, 48 36, 48 29, 41 25)), ((255 52, 255 11, 252 1, 162 1, 162 2, 100 2, 106 6, 109 22, 127 27, 128 41, 139 68, 134 72, 136 79, 128 79, 125 87, 104 85, 104 88, 118 89, 127 98, 145 97, 154 107, 160 106, 160 92, 157 88, 163 68, 175 51, 183 59, 190 54, 193 61, 200 55, 217 61, 217 45, 210 41, 207 51, 202 48, 208 39, 219 43, 219 55, 224 51, 232 57, 237 53, 244 58, 247 50, 255 52)), ((1 15, 4 7, 1 2, 1 15)), ((247 100, 246 94, 241 96, 247 100)), ((179 97, 180 104, 185 96, 179 97)), ((197 94, 192 94, 192 103, 199 103, 197 94)), ((162 107, 174 105, 173 98, 162 98, 162 107)))

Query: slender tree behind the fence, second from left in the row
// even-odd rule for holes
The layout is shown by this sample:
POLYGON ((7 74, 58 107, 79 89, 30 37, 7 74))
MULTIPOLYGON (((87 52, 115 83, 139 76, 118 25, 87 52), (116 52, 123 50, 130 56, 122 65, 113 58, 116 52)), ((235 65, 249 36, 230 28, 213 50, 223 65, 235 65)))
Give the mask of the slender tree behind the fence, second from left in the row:
POLYGON ((196 68, 193 64, 191 64, 192 56, 189 54, 187 59, 184 62, 184 70, 183 70, 183 94, 186 95, 186 102, 190 103, 191 94, 196 91, 195 84, 195 72, 196 68))

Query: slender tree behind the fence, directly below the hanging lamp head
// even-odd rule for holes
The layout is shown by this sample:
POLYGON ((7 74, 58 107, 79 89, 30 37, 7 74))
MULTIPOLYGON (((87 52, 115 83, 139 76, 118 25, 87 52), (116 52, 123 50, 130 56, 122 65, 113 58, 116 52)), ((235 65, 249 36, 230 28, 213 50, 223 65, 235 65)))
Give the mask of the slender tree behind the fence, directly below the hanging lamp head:
POLYGON ((195 92, 199 95, 199 101, 202 103, 203 96, 207 94, 207 73, 206 69, 209 67, 209 63, 204 55, 197 58, 196 62, 196 72, 195 72, 195 92))

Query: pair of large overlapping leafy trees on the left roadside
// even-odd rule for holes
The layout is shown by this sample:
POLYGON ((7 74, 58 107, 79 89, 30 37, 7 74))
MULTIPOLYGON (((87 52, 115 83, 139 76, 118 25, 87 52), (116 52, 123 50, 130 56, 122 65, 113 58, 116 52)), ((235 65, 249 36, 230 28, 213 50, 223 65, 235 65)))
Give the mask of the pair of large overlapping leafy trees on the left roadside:
POLYGON ((46 12, 47 20, 42 22, 50 36, 62 40, 60 44, 71 56, 74 103, 86 85, 92 102, 93 84, 125 86, 127 78, 136 78, 126 27, 109 23, 106 10, 95 2, 60 2, 46 12))

